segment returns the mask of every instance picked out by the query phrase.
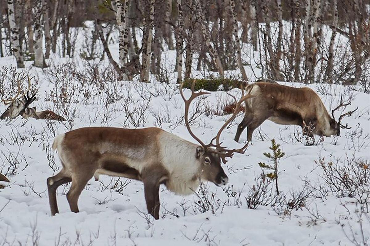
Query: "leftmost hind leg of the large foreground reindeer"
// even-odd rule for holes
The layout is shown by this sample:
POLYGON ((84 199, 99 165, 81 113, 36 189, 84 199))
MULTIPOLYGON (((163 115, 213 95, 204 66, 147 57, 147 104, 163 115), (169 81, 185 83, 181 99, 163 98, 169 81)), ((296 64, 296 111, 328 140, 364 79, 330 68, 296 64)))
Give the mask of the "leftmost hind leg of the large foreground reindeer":
POLYGON ((53 177, 48 177, 47 179, 47 188, 48 188, 48 193, 49 193, 49 204, 50 204, 50 210, 51 210, 51 215, 54 216, 55 214, 59 213, 58 210, 58 204, 57 204, 57 196, 56 196, 56 191, 59 186, 62 184, 71 182, 72 180, 65 176, 63 169, 56 174, 53 177))

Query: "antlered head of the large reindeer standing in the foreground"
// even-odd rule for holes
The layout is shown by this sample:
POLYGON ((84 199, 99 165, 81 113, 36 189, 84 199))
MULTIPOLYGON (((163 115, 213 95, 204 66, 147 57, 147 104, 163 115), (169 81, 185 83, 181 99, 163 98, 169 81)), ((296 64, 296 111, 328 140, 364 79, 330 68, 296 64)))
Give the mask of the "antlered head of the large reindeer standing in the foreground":
POLYGON ((235 110, 225 124, 219 129, 217 135, 211 140, 210 143, 207 145, 204 144, 195 134, 191 131, 189 121, 188 121, 188 113, 189 113, 189 106, 194 100, 194 98, 199 97, 201 95, 210 94, 208 92, 194 92, 194 85, 195 81, 193 81, 191 86, 191 96, 188 100, 185 99, 184 94, 182 93, 182 86, 180 87, 180 94, 182 99, 185 102, 185 125, 188 129, 190 135, 198 141, 201 146, 198 146, 196 148, 196 158, 200 160, 202 165, 202 174, 201 179, 207 180, 215 183, 217 186, 219 185, 225 185, 228 183, 228 176, 225 174, 221 167, 221 160, 225 164, 227 162, 226 157, 232 158, 233 153, 244 153, 246 148, 248 147, 248 142, 246 145, 244 145, 240 149, 226 149, 225 147, 221 146, 222 142, 220 143, 220 135, 225 129, 225 127, 236 117, 236 115, 239 113, 240 104, 242 104, 243 101, 247 100, 248 98, 252 97, 252 95, 248 94, 246 96, 243 96, 237 103, 235 110), (216 143, 213 143, 213 142, 216 143))

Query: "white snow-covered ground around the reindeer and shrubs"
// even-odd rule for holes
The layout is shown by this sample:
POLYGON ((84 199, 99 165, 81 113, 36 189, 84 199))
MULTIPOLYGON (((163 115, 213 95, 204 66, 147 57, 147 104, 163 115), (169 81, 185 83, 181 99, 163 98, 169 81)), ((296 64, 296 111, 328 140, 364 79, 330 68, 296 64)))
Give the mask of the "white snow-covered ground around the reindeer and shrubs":
MULTIPOLYGON (((110 46, 116 57, 117 47, 117 44, 110 46)), ((174 55, 174 51, 164 52, 169 66, 175 62, 174 55)), ((57 195, 60 214, 51 217, 46 179, 60 168, 56 153, 51 151, 56 135, 87 126, 157 126, 189 141, 195 140, 182 121, 184 103, 175 84, 104 81, 104 78, 95 83, 79 83, 74 68, 68 64, 75 64, 76 71, 83 73, 89 68, 80 58, 53 56, 48 62, 53 64, 44 72, 30 68, 31 62, 26 63, 30 75, 35 76, 34 86, 38 87, 38 100, 33 105, 38 110, 54 110, 68 121, 60 123, 20 117, 0 121, 0 172, 7 174, 11 181, 0 190, 0 245, 309 246, 355 245, 354 240, 359 245, 370 243, 370 219, 361 215, 360 205, 356 203, 358 197, 327 191, 330 186, 325 183, 320 166, 320 159, 324 159, 324 163, 332 161, 334 167, 356 166, 355 162, 362 161, 363 169, 369 170, 366 165, 370 161, 370 97, 337 85, 313 84, 310 87, 317 91, 328 110, 339 104, 341 94, 345 100, 352 98, 351 105, 343 109, 359 107, 351 117, 343 119, 351 129, 341 129, 339 137, 324 138, 323 142, 316 136, 316 142, 310 146, 302 138, 299 127, 266 121, 255 131, 253 144, 246 153, 235 154, 223 166, 229 176, 226 187, 209 183, 202 186, 198 195, 180 197, 162 186, 161 218, 158 221, 147 215, 141 182, 111 177, 88 182, 79 199, 81 212, 78 214, 70 212, 65 198, 69 185, 61 186, 57 195), (52 70, 59 72, 55 75, 52 70), (99 84, 102 81, 104 85, 99 84), (74 87, 70 84, 68 88, 64 87, 63 82, 74 87), (63 88, 70 100, 63 101, 63 88), (287 200, 301 191, 301 194, 309 193, 304 206, 302 204, 297 210, 286 211, 287 205, 283 201, 280 207, 277 203, 274 207, 248 208, 246 197, 253 186, 256 187, 255 179, 262 173, 258 163, 271 163, 263 155, 270 152, 271 139, 275 139, 286 153, 279 163, 280 192, 287 200), (321 187, 321 198, 317 198, 320 192, 313 191, 313 186, 321 187), (203 203, 205 205, 201 206, 203 203)), ((96 63, 107 66, 107 61, 96 63)), ((12 57, 0 59, 0 66, 15 64, 12 57)), ((4 71, 4 67, 1 69, 4 71)), ((175 75, 171 76, 174 82, 175 75)), ((7 78, 4 81, 9 83, 7 78)), ((185 95, 189 93, 189 90, 185 91, 185 95)), ((239 89, 233 89, 231 93, 240 96, 239 89)), ((192 112, 196 111, 198 117, 192 129, 204 142, 210 141, 228 118, 204 114, 206 108, 219 109, 228 100, 231 101, 225 92, 218 91, 201 99, 198 111, 195 110, 197 103, 193 103, 192 112)), ((0 105, 0 112, 5 109, 0 105)), ((337 112, 336 117, 339 115, 337 112)), ((246 140, 246 132, 243 132, 240 144, 233 141, 241 119, 242 115, 239 115, 232 126, 225 129, 222 135, 225 146, 240 148, 246 140)), ((267 194, 268 198, 275 193, 273 185, 269 186, 272 193, 267 194)), ((364 194, 369 194, 368 190, 364 194)))

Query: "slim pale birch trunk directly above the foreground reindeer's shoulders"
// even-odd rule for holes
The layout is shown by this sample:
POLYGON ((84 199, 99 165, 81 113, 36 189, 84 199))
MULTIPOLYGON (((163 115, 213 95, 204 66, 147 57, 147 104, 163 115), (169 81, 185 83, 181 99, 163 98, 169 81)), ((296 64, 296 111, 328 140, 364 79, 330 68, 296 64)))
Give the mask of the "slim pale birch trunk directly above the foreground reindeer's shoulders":
MULTIPOLYGON (((155 0, 150 0, 147 4, 149 13, 147 13, 145 18, 145 38, 143 38, 143 52, 142 52, 142 66, 140 72, 140 80, 142 82, 149 82, 149 72, 150 72, 150 53, 152 48, 152 38, 153 38, 153 25, 154 25, 154 2, 155 0)), ((143 35, 144 36, 144 35, 143 35)))

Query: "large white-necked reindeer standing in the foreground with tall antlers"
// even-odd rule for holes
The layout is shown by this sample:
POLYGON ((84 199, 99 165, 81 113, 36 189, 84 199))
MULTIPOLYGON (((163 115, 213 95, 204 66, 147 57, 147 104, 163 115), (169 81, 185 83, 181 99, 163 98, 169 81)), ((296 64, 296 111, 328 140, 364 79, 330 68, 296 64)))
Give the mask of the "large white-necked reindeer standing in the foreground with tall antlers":
POLYGON ((148 212, 159 219, 159 186, 165 184, 176 194, 191 194, 199 186, 199 180, 211 181, 217 186, 228 183, 228 176, 221 167, 221 160, 233 153, 244 153, 248 143, 240 149, 226 149, 219 138, 223 129, 239 112, 236 107, 232 117, 219 129, 211 143, 205 145, 191 131, 188 122, 189 105, 194 98, 209 94, 194 92, 185 101, 185 125, 191 136, 199 142, 188 142, 160 128, 124 129, 88 127, 58 135, 53 142, 62 163, 58 174, 47 179, 51 214, 58 213, 55 191, 58 186, 72 181, 67 193, 71 211, 78 212, 77 201, 88 180, 100 174, 140 180, 144 183, 144 195, 148 212), (216 143, 213 143, 213 141, 216 143))

